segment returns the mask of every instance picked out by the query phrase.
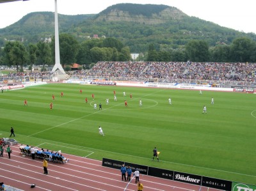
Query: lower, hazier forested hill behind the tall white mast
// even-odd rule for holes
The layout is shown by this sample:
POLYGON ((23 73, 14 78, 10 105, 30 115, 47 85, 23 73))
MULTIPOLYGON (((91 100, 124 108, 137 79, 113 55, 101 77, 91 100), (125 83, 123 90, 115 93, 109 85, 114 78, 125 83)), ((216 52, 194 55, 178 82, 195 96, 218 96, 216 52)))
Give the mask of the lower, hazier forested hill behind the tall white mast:
MULTIPOLYGON (((93 15, 61 15, 58 14, 60 33, 66 33, 68 29, 74 27, 93 15)), ((26 42, 38 42, 41 38, 54 35, 54 13, 33 12, 25 15, 14 24, 0 29, 1 39, 25 40, 26 42)))

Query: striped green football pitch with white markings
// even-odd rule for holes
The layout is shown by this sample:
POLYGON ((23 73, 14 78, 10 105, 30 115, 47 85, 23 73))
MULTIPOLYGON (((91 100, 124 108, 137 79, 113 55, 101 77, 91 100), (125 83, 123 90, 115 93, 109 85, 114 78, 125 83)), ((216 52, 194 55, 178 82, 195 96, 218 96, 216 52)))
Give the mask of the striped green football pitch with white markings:
POLYGON ((0 137, 9 137, 13 126, 15 139, 22 144, 97 160, 111 158, 256 183, 253 94, 203 91, 200 95, 191 90, 46 84, 4 91, 0 94, 0 113, 0 137), (204 105, 207 114, 202 114, 204 105), (160 162, 152 160, 155 146, 161 152, 160 162))

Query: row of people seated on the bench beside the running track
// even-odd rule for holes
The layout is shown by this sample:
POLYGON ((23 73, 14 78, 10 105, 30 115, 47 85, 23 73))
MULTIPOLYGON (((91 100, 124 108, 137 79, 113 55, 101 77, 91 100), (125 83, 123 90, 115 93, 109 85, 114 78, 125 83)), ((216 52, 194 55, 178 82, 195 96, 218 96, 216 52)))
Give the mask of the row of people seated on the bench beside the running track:
POLYGON ((34 146, 29 146, 29 145, 20 145, 20 152, 22 155, 28 155, 31 156, 32 159, 36 158, 42 158, 49 160, 51 162, 58 162, 58 163, 67 163, 68 158, 65 158, 62 154, 61 151, 49 151, 49 149, 38 149, 37 147, 34 146))

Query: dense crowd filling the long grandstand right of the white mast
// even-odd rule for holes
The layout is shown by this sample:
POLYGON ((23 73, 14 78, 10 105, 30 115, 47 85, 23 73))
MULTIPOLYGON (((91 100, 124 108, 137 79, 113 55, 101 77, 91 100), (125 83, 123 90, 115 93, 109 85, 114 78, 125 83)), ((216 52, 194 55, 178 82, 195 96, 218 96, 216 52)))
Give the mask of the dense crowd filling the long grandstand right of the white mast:
MULTIPOLYGON (((77 73, 76 73, 77 75, 77 73)), ((219 80, 256 84, 255 63, 198 63, 198 62, 98 62, 81 77, 95 76, 111 79, 172 79, 219 80)), ((170 80, 168 80, 170 82, 170 80)))

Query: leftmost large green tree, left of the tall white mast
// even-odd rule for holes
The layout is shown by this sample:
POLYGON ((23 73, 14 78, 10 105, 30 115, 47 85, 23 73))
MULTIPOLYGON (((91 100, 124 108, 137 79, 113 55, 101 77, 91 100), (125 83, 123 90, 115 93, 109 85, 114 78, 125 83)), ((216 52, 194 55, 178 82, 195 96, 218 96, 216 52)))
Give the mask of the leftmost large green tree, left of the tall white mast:
POLYGON ((7 42, 4 47, 4 61, 9 66, 16 66, 17 72, 23 72, 23 65, 28 59, 28 52, 21 42, 7 42))

